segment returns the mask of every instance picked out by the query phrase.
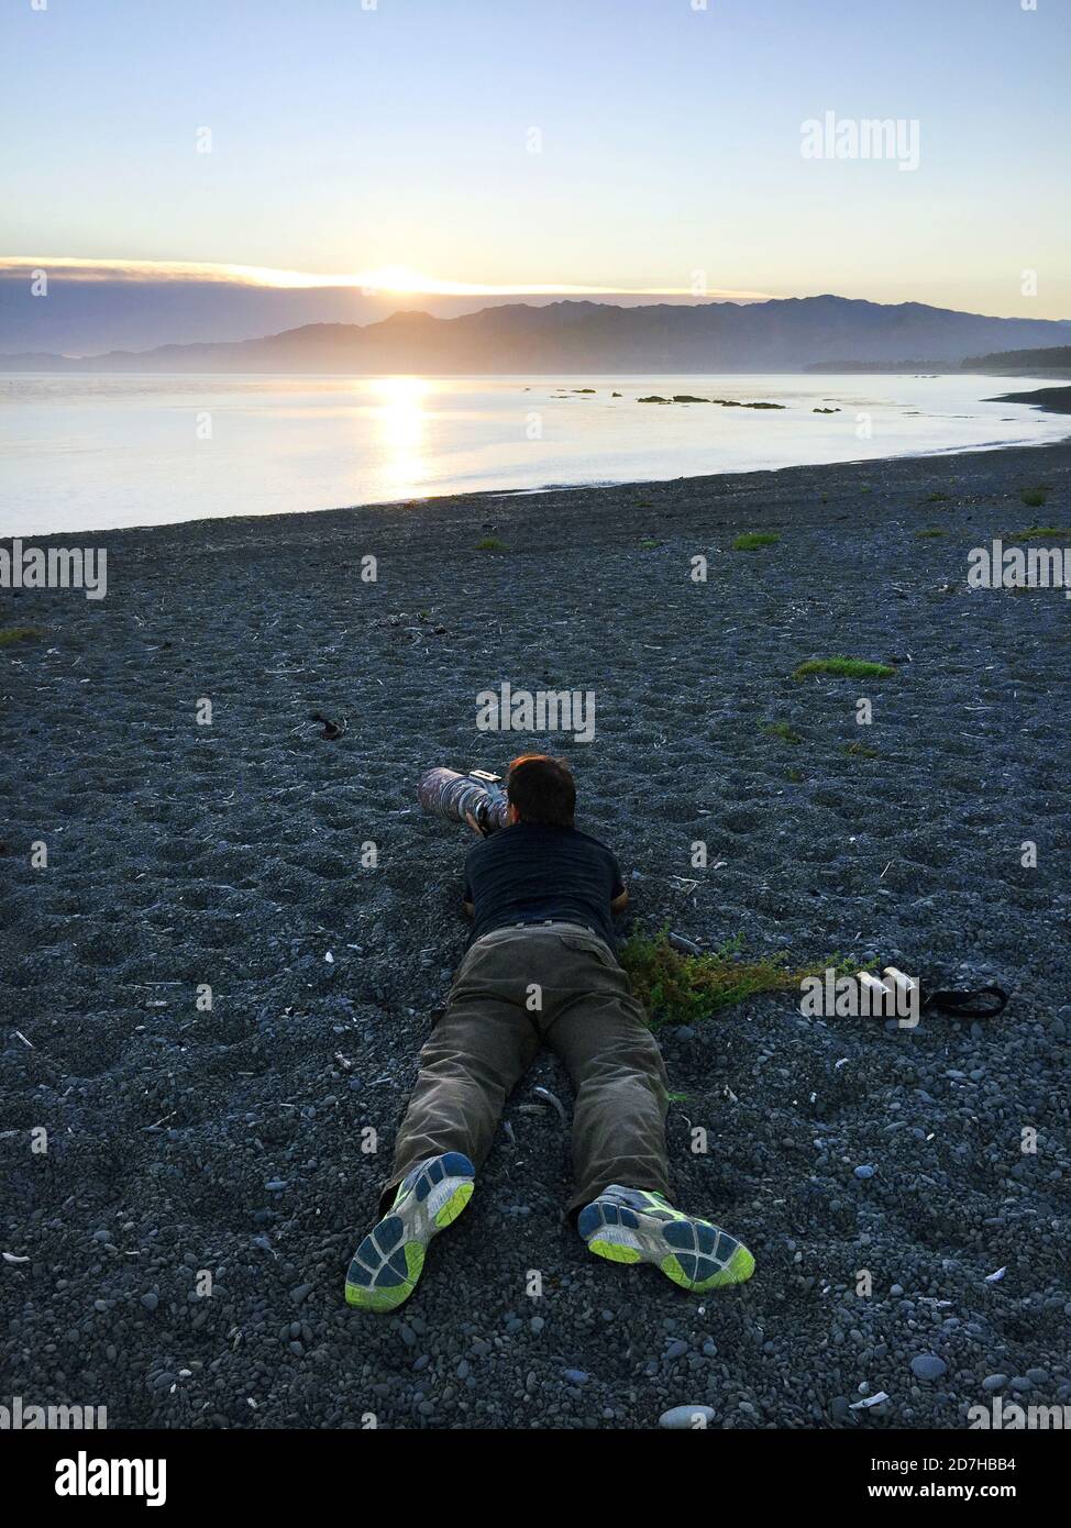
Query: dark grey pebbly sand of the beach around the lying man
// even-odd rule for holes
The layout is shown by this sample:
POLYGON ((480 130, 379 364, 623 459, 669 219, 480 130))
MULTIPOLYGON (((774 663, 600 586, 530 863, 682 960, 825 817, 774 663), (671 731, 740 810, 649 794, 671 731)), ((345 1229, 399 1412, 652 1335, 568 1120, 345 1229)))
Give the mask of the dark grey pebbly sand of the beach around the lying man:
POLYGON ((3 594, 0 625, 44 634, 0 651, 0 1245, 29 1259, 0 1265, 0 1400, 112 1427, 651 1427, 709 1403, 746 1429, 963 1427, 992 1375, 1066 1401, 1071 602, 966 588, 1039 483, 1066 526, 1060 445, 112 532, 104 602, 3 594), (762 529, 781 542, 727 550, 762 529), (898 672, 790 677, 828 654, 898 672), (478 733, 504 678, 594 689, 596 741, 478 733), (573 759, 633 926, 1013 1002, 889 1033, 761 998, 663 1030, 677 1198, 758 1258, 706 1300, 562 1227, 544 1059, 417 1296, 362 1316, 342 1276, 466 938, 468 836, 413 785, 530 744, 573 759), (915 1378, 923 1354, 947 1372, 915 1378), (862 1386, 886 1407, 849 1413, 862 1386))

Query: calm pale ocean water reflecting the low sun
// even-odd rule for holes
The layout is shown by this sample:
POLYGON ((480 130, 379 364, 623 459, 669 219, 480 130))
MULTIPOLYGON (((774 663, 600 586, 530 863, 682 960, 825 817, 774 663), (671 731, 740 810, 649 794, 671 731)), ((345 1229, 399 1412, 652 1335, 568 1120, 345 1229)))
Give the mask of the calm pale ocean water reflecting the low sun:
POLYGON ((869 461, 1063 439, 1071 425, 1060 416, 985 402, 995 393, 1034 385, 1047 382, 963 373, 535 380, 5 376, 0 535, 869 461), (637 402, 651 393, 785 406, 637 402), (816 408, 839 413, 816 414, 816 408))

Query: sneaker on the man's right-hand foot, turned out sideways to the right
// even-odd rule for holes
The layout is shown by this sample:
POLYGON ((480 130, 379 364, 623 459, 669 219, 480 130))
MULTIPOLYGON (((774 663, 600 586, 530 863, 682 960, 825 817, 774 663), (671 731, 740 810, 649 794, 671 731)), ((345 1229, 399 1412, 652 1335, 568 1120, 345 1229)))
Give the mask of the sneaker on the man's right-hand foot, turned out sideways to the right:
POLYGON ((652 1262, 697 1294, 743 1284, 755 1273, 755 1258, 743 1242, 646 1189, 611 1183, 581 1210, 576 1229, 596 1258, 652 1262))

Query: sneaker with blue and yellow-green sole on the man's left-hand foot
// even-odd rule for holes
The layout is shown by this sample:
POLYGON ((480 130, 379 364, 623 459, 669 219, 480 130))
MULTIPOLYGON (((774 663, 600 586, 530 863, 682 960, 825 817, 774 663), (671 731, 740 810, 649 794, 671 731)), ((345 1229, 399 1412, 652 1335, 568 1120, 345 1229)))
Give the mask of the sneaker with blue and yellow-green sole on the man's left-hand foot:
POLYGON ((428 1242, 472 1198, 474 1177, 475 1167, 458 1151, 417 1163, 399 1184, 388 1213, 354 1251, 345 1303, 365 1311, 403 1305, 417 1287, 428 1242))

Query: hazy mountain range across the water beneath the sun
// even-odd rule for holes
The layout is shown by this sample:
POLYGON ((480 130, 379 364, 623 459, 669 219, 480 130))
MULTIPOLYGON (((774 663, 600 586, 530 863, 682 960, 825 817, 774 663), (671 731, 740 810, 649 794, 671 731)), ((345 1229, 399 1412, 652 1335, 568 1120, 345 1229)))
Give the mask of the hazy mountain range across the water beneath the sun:
POLYGON ((1065 345, 1071 324, 984 318, 921 303, 840 296, 768 303, 524 303, 458 318, 399 312, 374 324, 306 324, 264 339, 113 350, 102 356, 0 356, 5 371, 284 371, 425 374, 584 374, 802 371, 830 364, 959 365, 982 350, 1065 345))

